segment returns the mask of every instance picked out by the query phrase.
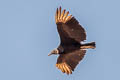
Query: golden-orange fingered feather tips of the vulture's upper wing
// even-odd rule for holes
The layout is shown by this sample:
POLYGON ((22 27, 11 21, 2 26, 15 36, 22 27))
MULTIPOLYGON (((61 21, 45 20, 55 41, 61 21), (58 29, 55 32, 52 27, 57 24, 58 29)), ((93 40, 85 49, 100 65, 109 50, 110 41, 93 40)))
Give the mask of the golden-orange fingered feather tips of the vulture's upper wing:
POLYGON ((56 10, 56 15, 55 15, 56 23, 59 23, 59 22, 66 23, 72 18, 72 15, 69 15, 69 11, 65 12, 66 9, 63 9, 63 11, 61 12, 61 10, 62 10, 61 6, 59 7, 59 9, 57 8, 56 10))

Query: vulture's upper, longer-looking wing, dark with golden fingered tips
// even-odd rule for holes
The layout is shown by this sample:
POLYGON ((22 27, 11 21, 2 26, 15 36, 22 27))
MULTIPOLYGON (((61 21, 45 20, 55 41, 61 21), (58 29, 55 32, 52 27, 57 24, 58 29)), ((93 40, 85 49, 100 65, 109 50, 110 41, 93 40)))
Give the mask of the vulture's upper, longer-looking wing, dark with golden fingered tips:
POLYGON ((55 21, 57 29, 60 35, 61 43, 79 43, 80 41, 86 40, 86 33, 84 28, 69 12, 61 12, 61 7, 57 8, 55 21), (69 15, 69 16, 68 16, 69 15))

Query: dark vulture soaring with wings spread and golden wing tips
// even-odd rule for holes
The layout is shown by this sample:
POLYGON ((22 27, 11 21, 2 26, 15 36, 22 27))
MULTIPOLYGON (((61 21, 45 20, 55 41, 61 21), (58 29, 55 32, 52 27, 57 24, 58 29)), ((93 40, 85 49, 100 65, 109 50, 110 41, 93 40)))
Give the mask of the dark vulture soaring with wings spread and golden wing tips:
POLYGON ((48 56, 58 54, 56 67, 63 73, 72 74, 75 67, 83 59, 86 49, 94 49, 95 42, 81 43, 86 40, 86 32, 79 22, 69 15, 69 11, 61 7, 56 10, 55 22, 60 36, 60 45, 54 49, 48 56))

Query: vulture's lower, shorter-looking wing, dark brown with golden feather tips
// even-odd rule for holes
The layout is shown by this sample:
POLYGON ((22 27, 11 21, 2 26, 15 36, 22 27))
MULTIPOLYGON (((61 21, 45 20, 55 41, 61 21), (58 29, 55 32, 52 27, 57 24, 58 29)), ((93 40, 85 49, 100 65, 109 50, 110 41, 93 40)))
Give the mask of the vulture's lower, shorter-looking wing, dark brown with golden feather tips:
POLYGON ((56 67, 63 73, 72 74, 80 60, 83 59, 86 50, 76 50, 67 54, 60 54, 56 67))

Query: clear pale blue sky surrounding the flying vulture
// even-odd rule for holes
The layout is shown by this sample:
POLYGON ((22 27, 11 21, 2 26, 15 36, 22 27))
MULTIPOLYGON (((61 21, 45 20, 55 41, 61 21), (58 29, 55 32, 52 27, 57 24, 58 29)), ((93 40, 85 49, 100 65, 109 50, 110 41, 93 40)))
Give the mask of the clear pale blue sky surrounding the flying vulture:
POLYGON ((0 0, 0 80, 120 80, 120 0, 0 0), (87 31, 88 50, 72 75, 48 53, 59 45, 62 6, 87 31))

